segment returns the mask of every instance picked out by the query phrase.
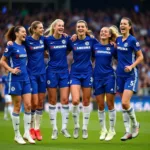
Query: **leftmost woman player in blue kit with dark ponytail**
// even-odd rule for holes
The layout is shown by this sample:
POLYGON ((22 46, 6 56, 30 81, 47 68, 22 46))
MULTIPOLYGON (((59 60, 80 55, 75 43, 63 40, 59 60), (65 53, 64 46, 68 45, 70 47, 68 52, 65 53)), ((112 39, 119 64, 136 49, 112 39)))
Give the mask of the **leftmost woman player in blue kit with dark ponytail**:
POLYGON ((13 41, 12 46, 7 46, 1 58, 1 65, 9 71, 9 94, 14 102, 12 123, 15 132, 14 140, 19 144, 25 144, 26 139, 34 144, 29 129, 31 124, 31 85, 26 69, 27 54, 22 42, 25 41, 26 30, 23 26, 12 27, 6 33, 7 40, 13 41), (24 103, 24 129, 22 138, 19 131, 21 102, 24 103))

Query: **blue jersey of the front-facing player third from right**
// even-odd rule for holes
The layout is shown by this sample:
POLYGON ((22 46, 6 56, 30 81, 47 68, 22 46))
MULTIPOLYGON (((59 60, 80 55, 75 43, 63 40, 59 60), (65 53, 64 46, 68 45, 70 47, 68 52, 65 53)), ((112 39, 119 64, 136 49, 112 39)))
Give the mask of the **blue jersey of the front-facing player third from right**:
POLYGON ((92 72, 92 50, 93 45, 98 41, 95 38, 86 36, 84 40, 77 39, 70 41, 70 46, 73 51, 73 64, 71 65, 71 73, 87 74, 92 72))

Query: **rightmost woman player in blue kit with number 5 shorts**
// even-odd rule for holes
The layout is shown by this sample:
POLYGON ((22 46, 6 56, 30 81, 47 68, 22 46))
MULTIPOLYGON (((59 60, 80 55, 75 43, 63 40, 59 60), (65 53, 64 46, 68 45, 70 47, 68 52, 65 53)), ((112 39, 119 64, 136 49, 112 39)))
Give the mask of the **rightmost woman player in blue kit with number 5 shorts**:
POLYGON ((139 133, 140 125, 136 120, 135 112, 130 105, 134 92, 137 92, 138 70, 137 65, 143 60, 139 42, 133 36, 133 26, 129 18, 122 18, 120 22, 122 36, 116 39, 117 44, 117 90, 121 96, 123 108, 123 121, 126 133, 122 141, 135 138, 139 133), (132 131, 130 131, 130 120, 132 131))

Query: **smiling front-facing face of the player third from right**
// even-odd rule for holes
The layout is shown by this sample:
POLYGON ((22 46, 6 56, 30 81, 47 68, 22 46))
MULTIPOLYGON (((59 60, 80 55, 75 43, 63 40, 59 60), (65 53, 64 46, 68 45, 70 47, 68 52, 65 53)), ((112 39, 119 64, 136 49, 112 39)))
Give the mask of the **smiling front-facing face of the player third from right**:
POLYGON ((87 32, 87 26, 84 22, 79 22, 76 25, 76 32, 78 36, 85 36, 87 32))

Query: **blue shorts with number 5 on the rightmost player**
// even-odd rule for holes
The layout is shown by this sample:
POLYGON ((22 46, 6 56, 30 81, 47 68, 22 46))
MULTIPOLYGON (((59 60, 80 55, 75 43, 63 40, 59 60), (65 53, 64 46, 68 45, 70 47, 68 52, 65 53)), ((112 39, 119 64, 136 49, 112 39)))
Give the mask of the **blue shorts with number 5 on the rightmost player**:
POLYGON ((138 88, 138 77, 120 77, 117 76, 117 92, 123 93, 123 91, 131 90, 133 92, 137 92, 138 88))

